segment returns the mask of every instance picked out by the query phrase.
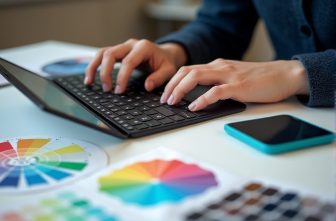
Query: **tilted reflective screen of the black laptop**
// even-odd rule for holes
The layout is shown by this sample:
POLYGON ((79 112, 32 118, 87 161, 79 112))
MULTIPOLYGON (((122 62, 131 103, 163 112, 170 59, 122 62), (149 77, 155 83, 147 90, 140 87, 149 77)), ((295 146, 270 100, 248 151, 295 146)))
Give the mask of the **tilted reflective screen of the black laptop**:
POLYGON ((0 64, 12 74, 17 81, 23 84, 36 97, 38 97, 49 109, 77 118, 87 123, 102 128, 110 128, 71 97, 56 87, 51 81, 19 68, 9 62, 0 59, 0 64))

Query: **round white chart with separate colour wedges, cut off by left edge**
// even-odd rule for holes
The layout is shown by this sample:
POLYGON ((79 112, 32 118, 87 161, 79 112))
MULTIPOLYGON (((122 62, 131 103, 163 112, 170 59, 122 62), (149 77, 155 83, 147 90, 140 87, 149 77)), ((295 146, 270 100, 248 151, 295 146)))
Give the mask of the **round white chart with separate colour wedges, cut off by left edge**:
POLYGON ((20 193, 74 181, 107 163, 105 152, 63 137, 0 141, 0 193, 20 193))

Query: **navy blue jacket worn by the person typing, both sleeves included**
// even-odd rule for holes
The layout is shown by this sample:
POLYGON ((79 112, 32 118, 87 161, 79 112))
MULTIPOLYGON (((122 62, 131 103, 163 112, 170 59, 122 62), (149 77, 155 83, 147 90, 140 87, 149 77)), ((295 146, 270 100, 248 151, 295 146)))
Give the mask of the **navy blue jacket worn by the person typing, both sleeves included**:
POLYGON ((257 20, 264 20, 276 60, 302 62, 310 96, 308 107, 334 106, 336 90, 336 0, 203 0, 195 21, 156 43, 177 42, 188 65, 216 58, 240 60, 257 20))

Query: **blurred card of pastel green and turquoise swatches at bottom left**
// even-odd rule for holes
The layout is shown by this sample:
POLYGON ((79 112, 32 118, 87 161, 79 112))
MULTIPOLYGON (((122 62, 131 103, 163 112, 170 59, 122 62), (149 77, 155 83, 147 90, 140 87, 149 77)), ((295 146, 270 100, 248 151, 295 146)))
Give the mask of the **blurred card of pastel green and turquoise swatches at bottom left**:
POLYGON ((1 221, 120 221, 99 197, 65 187, 0 208, 1 221))

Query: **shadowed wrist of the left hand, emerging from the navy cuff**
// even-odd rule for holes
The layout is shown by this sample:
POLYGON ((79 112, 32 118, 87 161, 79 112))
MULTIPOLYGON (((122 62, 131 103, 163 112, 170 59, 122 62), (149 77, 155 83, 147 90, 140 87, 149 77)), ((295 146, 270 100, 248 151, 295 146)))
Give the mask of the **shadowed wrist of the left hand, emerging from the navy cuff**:
POLYGON ((188 55, 184 47, 179 43, 164 43, 158 45, 167 55, 168 60, 174 64, 176 69, 187 64, 188 55))

